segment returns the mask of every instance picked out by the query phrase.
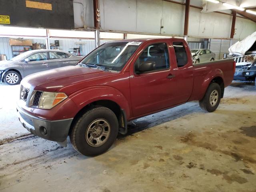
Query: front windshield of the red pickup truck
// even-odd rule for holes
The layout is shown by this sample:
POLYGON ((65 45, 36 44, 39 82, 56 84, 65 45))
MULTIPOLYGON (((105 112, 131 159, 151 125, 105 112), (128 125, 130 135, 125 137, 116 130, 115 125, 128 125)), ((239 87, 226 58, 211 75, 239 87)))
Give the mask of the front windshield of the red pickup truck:
POLYGON ((121 71, 142 42, 108 42, 92 51, 82 64, 97 65, 107 70, 121 71))

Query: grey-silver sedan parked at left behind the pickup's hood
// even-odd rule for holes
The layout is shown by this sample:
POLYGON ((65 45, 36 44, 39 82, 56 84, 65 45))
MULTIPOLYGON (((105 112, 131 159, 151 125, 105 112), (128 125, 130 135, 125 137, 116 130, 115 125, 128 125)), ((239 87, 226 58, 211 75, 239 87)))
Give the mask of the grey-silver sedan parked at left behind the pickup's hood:
POLYGON ((30 74, 75 65, 82 57, 60 50, 31 50, 10 60, 0 61, 0 82, 16 85, 30 74))

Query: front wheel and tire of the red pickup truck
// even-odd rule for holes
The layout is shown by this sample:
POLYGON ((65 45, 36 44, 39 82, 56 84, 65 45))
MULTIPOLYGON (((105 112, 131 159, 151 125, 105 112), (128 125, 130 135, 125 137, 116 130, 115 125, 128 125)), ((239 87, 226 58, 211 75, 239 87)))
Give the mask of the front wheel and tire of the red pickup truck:
POLYGON ((118 120, 112 110, 96 107, 85 112, 74 123, 70 141, 83 155, 100 155, 112 146, 118 134, 118 120))

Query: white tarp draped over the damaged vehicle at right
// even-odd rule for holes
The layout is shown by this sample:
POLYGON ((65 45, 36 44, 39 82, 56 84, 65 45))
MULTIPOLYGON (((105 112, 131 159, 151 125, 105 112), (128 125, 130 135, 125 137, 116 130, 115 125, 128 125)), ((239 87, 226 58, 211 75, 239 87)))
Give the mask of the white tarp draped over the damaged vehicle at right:
POLYGON ((236 42, 234 45, 228 48, 229 54, 244 55, 256 41, 256 32, 250 34, 242 41, 236 42))

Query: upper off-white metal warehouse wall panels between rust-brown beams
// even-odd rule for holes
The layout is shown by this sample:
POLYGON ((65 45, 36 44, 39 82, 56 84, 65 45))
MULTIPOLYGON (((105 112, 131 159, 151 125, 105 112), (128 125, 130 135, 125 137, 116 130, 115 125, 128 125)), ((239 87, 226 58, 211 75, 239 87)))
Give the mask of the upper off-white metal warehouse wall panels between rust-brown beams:
MULTIPOLYGON (((183 35, 185 6, 163 0, 99 0, 100 25, 104 30, 183 35), (164 26, 161 30, 161 26, 164 26)), ((204 38, 230 38, 232 16, 201 13, 190 7, 188 35, 204 38)), ((256 31, 256 24, 237 18, 234 38, 256 31), (239 35, 239 36, 238 36, 239 35)))

